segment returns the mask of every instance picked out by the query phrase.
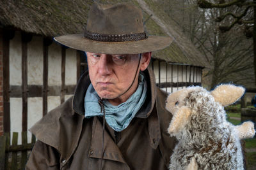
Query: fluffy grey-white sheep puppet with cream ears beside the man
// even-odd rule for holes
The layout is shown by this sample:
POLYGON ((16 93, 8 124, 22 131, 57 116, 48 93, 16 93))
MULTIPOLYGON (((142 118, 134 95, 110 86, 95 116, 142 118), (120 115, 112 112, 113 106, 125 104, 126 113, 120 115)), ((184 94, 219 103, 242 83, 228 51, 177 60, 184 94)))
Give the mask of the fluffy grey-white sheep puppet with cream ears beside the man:
POLYGON ((173 114, 167 131, 178 140, 169 169, 244 169, 240 139, 254 136, 254 124, 235 126, 224 110, 243 94, 243 87, 228 84, 211 92, 188 87, 167 97, 173 114))

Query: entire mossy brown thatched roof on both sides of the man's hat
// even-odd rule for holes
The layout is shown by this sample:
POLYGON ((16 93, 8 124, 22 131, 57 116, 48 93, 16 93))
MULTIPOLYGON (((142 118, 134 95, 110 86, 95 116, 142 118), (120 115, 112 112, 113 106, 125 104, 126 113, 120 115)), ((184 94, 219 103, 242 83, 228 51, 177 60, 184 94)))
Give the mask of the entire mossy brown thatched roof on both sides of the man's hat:
MULTIPOLYGON (((88 10, 92 3, 93 0, 1 0, 0 26, 11 26, 43 36, 81 33, 86 25, 88 10)), ((148 0, 145 3, 143 0, 132 0, 132 3, 140 6, 144 11, 145 19, 152 15, 146 23, 149 34, 165 35, 174 39, 168 48, 154 52, 154 58, 193 66, 207 66, 200 52, 183 36, 179 27, 172 23, 172 18, 164 14, 159 7, 155 7, 154 3, 157 2, 148 0)))

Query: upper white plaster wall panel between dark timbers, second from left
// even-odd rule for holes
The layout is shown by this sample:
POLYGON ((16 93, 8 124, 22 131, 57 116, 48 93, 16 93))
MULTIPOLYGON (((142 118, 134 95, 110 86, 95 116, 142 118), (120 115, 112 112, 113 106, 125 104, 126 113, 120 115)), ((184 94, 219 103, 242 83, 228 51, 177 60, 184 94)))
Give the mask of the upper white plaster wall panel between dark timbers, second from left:
POLYGON ((43 84, 44 52, 42 36, 33 36, 28 43, 28 85, 43 84))

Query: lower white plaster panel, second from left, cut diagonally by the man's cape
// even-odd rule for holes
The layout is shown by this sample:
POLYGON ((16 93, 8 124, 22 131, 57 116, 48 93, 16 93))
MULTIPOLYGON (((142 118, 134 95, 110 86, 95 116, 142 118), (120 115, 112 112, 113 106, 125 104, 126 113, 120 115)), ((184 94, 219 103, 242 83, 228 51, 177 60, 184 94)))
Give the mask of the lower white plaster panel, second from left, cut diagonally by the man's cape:
MULTIPOLYGON (((43 98, 28 97, 28 129, 30 129, 43 115, 43 98)), ((31 142, 31 132, 28 132, 28 143, 31 142)))

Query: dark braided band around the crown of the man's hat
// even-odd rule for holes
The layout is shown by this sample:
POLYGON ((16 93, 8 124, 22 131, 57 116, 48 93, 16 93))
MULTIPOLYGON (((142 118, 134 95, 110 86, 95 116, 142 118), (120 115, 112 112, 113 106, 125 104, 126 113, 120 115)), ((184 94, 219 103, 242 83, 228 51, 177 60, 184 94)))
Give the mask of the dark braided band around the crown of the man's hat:
POLYGON ((94 41, 123 42, 147 39, 148 36, 145 32, 134 34, 99 34, 85 30, 84 38, 92 39, 94 41))

